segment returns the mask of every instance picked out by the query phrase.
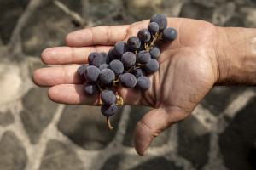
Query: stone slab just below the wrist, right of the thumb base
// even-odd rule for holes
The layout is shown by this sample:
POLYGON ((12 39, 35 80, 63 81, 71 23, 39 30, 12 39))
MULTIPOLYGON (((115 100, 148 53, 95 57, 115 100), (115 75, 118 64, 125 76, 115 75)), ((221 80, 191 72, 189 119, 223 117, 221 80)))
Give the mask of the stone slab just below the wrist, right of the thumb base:
POLYGON ((236 97, 247 88, 241 87, 214 87, 201 101, 201 105, 218 116, 236 97))

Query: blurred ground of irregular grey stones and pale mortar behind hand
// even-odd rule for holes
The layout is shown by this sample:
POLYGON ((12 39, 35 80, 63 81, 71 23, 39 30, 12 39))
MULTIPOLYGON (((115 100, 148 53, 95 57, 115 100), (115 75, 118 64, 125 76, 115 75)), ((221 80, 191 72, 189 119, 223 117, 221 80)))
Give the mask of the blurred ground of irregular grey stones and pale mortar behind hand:
POLYGON ((256 169, 256 88, 212 88, 141 157, 132 133, 150 108, 120 107, 109 131, 98 107, 55 104, 32 83, 42 50, 68 32, 156 13, 256 27, 255 0, 0 0, 1 170, 256 169))

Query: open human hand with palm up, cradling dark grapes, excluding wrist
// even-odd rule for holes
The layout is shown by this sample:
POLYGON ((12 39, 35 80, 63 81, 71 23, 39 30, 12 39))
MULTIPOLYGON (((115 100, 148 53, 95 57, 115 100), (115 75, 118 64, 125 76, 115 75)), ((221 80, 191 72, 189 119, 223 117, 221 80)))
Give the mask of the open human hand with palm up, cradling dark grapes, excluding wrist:
MULTIPOLYGON (((148 28, 149 20, 130 26, 99 26, 67 35, 68 47, 45 49, 42 60, 46 65, 33 73, 33 81, 49 88, 49 99, 68 105, 99 105, 98 96, 84 94, 84 82, 77 75, 79 65, 87 62, 93 52, 108 52, 118 41, 126 41, 148 28), (66 65, 66 66, 63 66, 66 65)), ((174 42, 162 42, 158 59, 159 71, 149 75, 151 88, 142 92, 137 88, 119 87, 125 105, 151 106, 137 122, 134 144, 137 153, 146 155, 152 140, 173 123, 180 122, 194 111, 195 106, 218 80, 218 63, 214 38, 216 27, 201 20, 169 18, 168 27, 177 30, 174 42)))

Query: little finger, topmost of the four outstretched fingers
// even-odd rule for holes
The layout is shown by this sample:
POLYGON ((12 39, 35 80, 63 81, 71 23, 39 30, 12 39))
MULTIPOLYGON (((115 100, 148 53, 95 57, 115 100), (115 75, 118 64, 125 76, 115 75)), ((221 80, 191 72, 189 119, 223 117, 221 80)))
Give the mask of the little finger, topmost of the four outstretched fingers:
POLYGON ((127 26, 97 26, 73 31, 66 37, 67 46, 113 45, 125 39, 127 26))

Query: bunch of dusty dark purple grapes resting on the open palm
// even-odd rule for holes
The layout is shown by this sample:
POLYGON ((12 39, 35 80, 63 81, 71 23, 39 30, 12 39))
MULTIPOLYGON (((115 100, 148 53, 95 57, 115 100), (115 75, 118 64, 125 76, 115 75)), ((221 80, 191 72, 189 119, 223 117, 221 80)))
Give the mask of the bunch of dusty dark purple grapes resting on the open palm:
POLYGON ((108 54, 93 52, 88 56, 89 65, 80 65, 79 77, 84 79, 86 94, 99 94, 102 103, 102 115, 107 116, 108 127, 112 129, 109 116, 117 111, 117 105, 124 105, 118 92, 121 84, 124 88, 139 88, 143 91, 151 87, 147 77, 159 69, 157 61, 160 41, 172 42, 177 31, 167 27, 164 14, 154 14, 148 29, 138 31, 137 37, 129 37, 127 43, 119 41, 108 54))

